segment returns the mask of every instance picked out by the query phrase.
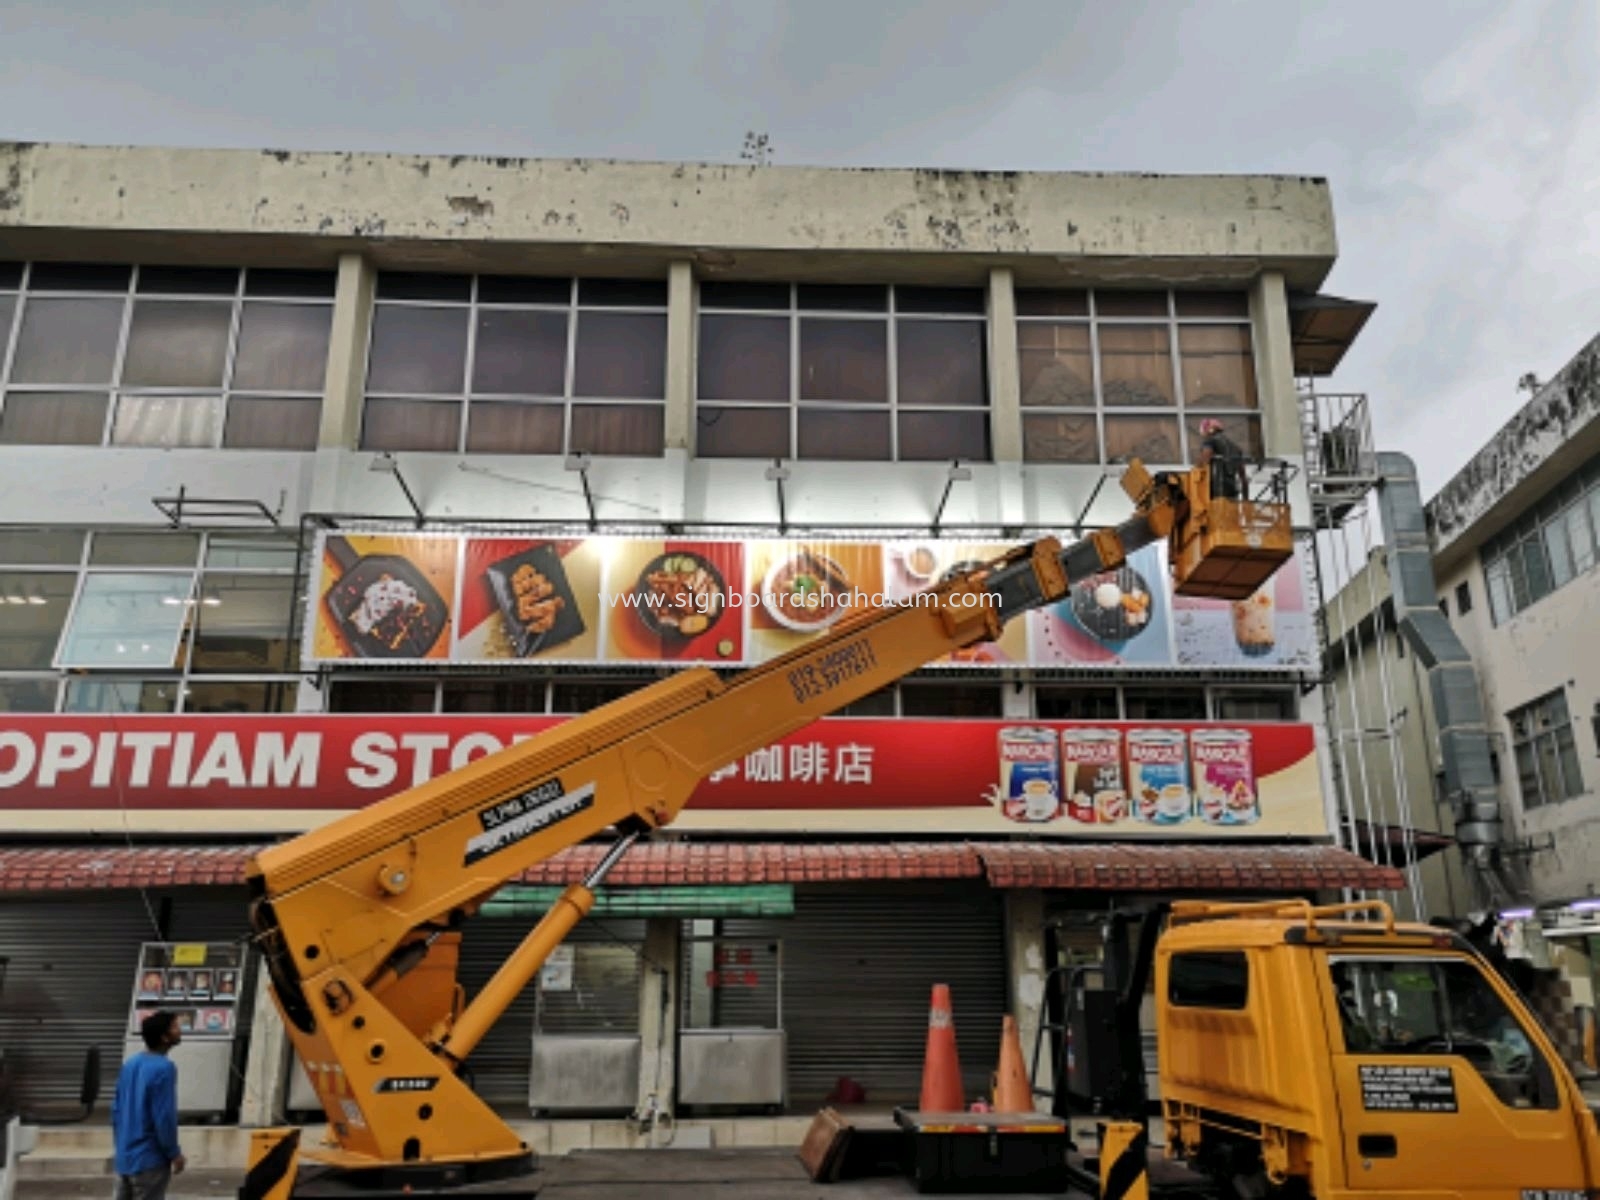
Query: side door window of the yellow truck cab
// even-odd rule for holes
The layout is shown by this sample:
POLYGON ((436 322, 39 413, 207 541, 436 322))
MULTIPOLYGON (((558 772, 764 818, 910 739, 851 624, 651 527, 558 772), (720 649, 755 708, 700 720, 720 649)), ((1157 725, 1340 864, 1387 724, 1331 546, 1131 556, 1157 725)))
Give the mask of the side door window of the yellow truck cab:
POLYGON ((1544 1107, 1542 1059, 1483 973, 1459 958, 1336 958, 1350 1054, 1456 1054, 1514 1107, 1544 1107))

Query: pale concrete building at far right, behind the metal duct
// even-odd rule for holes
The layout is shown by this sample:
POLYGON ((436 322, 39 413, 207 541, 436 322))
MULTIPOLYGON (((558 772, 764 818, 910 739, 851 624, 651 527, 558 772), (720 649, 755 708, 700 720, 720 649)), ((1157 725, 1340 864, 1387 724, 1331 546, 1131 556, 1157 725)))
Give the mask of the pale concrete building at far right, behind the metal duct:
MULTIPOLYGON (((1427 501, 1427 600, 1472 672, 1499 810, 1499 886, 1482 891, 1454 854, 1419 864, 1429 914, 1496 909, 1520 957, 1560 970, 1566 1008, 1579 1010, 1571 1037, 1587 1029, 1590 1040, 1600 962, 1597 418, 1600 339, 1427 501)), ((1349 778, 1365 778, 1354 792, 1378 819, 1410 816, 1418 829, 1451 835, 1459 797, 1446 782, 1448 722, 1427 664, 1400 635, 1390 555, 1376 550, 1328 603, 1330 693, 1346 730, 1365 731, 1341 739, 1339 757, 1349 778)))

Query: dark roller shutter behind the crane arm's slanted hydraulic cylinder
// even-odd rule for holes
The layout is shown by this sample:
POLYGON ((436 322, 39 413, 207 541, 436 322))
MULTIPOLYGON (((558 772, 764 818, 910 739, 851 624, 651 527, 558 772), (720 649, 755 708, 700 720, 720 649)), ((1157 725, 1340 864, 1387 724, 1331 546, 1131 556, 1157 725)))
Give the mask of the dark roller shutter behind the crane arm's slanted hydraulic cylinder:
MULTIPOLYGON (((478 917, 461 938, 458 979, 467 1000, 477 995, 534 926, 522 917, 478 917)), ((539 994, 534 981, 472 1051, 474 1090, 490 1104, 528 1104, 533 1030, 547 1034, 637 1034, 643 920, 587 918, 566 936, 574 950, 573 987, 539 994)))

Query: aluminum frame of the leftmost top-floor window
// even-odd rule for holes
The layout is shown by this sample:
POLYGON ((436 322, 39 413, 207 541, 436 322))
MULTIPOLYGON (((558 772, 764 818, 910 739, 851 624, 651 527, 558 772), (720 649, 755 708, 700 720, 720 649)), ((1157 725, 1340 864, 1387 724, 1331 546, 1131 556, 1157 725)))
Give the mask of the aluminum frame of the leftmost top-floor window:
MULTIPOLYGON (((240 400, 315 400, 318 405, 318 418, 322 405, 325 403, 326 386, 320 386, 317 390, 299 390, 299 389, 238 389, 234 387, 234 370, 238 362, 238 334, 243 326, 243 314, 246 304, 270 306, 270 304, 288 304, 288 306, 304 306, 304 307, 322 307, 328 312, 328 330, 333 331, 333 306, 334 294, 328 296, 266 296, 253 294, 248 291, 248 274, 251 267, 227 267, 227 270, 235 272, 234 291, 232 293, 197 293, 197 291, 139 291, 139 277, 146 269, 144 264, 131 264, 128 267, 128 285, 120 291, 110 290, 46 290, 35 291, 32 286, 34 280, 34 262, 27 261, 22 264, 22 278, 16 290, 0 288, 0 293, 16 298, 16 310, 11 314, 11 328, 3 342, 3 355, 0 355, 0 419, 5 416, 5 403, 8 395, 53 395, 61 392, 75 394, 94 394, 106 397, 106 414, 101 424, 99 442, 67 442, 67 443, 40 443, 40 442, 21 442, 8 445, 74 445, 74 446, 128 446, 128 448, 160 448, 160 450, 242 450, 256 453, 304 453, 306 450, 314 450, 315 445, 306 446, 302 450, 282 450, 278 446, 232 446, 227 443, 227 418, 229 405, 237 397, 240 400), (112 373, 110 379, 98 384, 18 384, 11 381, 11 373, 16 366, 16 347, 22 336, 22 320, 27 312, 27 304, 32 299, 98 299, 107 301, 115 299, 122 304, 122 323, 117 333, 117 347, 112 355, 112 373), (178 304, 227 304, 229 306, 229 328, 227 328, 227 346, 222 358, 222 378, 218 387, 144 387, 144 386, 126 386, 123 384, 123 370, 128 358, 128 334, 133 328, 133 315, 136 306, 144 301, 150 304, 160 302, 178 302, 178 304), (117 442, 114 440, 117 427, 117 413, 122 408, 123 398, 139 400, 144 397, 162 398, 208 398, 216 403, 216 429, 208 443, 190 445, 178 442, 157 442, 157 443, 139 443, 139 442, 117 442)), ((123 264, 110 264, 123 266, 123 264)), ((162 264, 149 264, 152 269, 162 264)), ((331 347, 331 336, 330 336, 331 347)), ((323 371, 326 373, 328 355, 323 355, 323 371)))

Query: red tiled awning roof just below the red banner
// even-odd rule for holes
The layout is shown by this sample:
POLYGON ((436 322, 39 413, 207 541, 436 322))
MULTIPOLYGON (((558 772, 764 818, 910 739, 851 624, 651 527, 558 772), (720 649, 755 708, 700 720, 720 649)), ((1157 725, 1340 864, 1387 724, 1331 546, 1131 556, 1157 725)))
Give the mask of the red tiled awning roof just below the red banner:
MULTIPOLYGON (((227 886, 261 846, 5 846, 0 894, 227 886)), ((578 883, 605 846, 573 846, 517 877, 578 883)), ((987 878, 997 888, 1096 891, 1398 891, 1405 877, 1336 846, 1021 842, 658 842, 635 846, 608 886, 987 878)))

